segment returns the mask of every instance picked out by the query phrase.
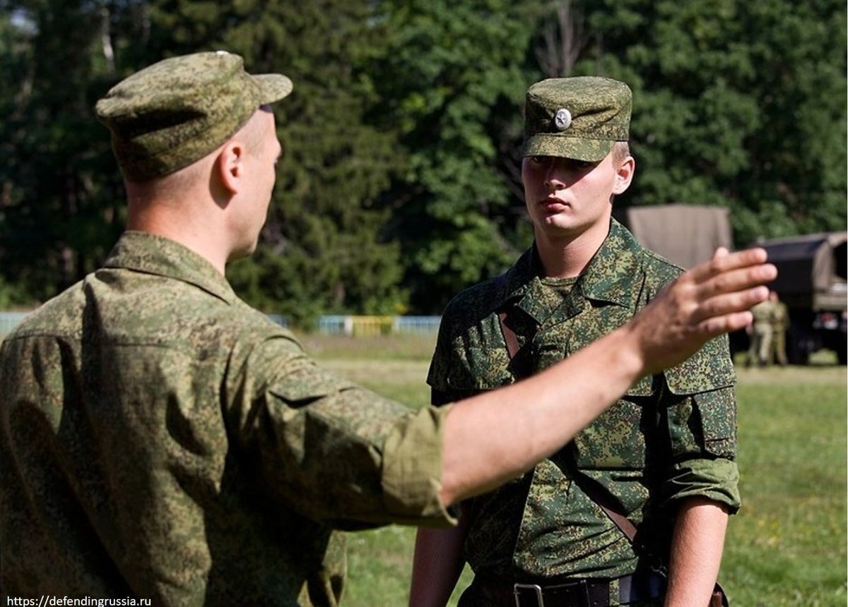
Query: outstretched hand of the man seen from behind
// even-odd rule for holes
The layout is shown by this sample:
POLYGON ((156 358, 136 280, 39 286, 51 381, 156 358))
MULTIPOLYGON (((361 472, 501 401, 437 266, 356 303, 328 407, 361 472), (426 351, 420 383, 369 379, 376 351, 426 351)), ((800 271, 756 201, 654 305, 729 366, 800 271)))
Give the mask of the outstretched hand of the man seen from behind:
POLYGON ((768 296, 763 286, 777 268, 763 249, 728 253, 720 248, 662 291, 630 323, 639 342, 644 374, 673 367, 706 341, 745 328, 750 306, 768 296))

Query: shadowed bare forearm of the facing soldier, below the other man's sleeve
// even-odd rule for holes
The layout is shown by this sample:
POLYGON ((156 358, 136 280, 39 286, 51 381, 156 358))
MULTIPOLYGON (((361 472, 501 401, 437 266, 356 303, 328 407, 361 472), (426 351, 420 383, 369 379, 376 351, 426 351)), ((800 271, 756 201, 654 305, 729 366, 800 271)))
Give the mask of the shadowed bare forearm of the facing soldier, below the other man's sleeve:
POLYGON ((444 607, 462 572, 462 544, 468 519, 463 515, 456 527, 421 528, 416 535, 412 560, 410 607, 444 607))

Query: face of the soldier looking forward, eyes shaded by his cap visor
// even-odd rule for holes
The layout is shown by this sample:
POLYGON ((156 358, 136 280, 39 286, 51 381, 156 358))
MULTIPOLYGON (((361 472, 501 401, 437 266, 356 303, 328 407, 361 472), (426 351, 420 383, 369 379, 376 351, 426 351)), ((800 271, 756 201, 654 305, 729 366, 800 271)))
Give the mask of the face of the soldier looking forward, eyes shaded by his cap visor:
POLYGON ((524 158, 522 182, 527 212, 537 238, 575 238, 589 229, 605 229, 612 197, 627 190, 633 158, 614 163, 612 153, 599 163, 569 158, 524 158))

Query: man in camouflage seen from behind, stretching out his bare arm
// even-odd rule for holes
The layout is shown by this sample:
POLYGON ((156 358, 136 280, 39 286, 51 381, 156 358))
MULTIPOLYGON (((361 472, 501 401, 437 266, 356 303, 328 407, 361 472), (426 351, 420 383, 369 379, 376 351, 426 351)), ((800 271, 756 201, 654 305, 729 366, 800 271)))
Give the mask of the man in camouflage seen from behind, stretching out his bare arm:
POLYGON ((0 349, 5 595, 337 605, 334 529, 449 525, 450 505, 529 469, 766 296, 765 251, 720 255, 584 356, 410 411, 316 367, 224 277, 265 221, 281 153, 265 104, 291 88, 204 52, 98 102, 128 230, 0 349))

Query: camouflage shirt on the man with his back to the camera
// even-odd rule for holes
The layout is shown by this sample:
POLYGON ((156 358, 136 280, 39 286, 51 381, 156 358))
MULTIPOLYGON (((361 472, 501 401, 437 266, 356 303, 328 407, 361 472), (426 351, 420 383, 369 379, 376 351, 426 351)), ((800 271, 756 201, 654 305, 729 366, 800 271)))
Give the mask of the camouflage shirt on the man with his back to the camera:
POLYGON ((0 350, 3 593, 336 605, 334 528, 445 521, 444 414, 333 377, 128 232, 0 350))

